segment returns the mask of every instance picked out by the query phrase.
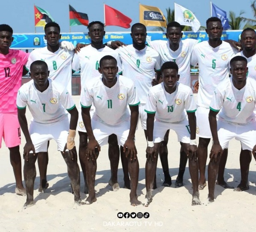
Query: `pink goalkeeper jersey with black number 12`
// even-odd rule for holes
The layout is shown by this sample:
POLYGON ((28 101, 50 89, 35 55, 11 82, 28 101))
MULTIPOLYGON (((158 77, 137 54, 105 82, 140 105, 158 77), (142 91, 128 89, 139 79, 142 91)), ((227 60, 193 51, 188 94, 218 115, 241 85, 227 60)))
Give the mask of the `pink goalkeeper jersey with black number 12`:
POLYGON ((7 55, 0 54, 0 113, 17 111, 17 92, 28 57, 29 53, 14 49, 9 49, 7 55))

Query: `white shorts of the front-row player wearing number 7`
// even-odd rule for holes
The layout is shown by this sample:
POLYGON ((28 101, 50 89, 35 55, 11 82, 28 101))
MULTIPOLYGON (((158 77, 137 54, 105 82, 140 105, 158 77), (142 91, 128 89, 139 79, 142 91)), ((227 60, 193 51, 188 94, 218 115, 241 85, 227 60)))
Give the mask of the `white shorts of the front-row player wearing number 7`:
POLYGON ((57 142, 58 151, 63 151, 67 143, 69 126, 68 117, 60 122, 50 124, 41 124, 32 121, 29 127, 29 134, 35 147, 35 153, 47 152, 47 143, 51 139, 57 142))

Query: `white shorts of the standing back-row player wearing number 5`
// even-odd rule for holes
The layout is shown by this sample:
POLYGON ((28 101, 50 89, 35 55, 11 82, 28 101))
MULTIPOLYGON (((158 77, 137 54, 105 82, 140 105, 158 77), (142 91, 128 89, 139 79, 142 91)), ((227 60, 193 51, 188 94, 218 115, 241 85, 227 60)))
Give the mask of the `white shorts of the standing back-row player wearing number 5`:
POLYGON ((196 136, 206 139, 212 138, 212 133, 209 124, 209 108, 197 106, 196 116, 196 136))

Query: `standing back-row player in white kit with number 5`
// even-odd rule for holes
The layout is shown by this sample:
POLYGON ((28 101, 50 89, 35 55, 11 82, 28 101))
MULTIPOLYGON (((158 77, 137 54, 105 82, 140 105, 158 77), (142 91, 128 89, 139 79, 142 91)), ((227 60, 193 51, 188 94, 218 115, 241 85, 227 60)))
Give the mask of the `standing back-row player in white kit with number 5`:
MULTIPOLYGON (((199 190, 206 186, 205 167, 207 161, 207 147, 212 137, 209 127, 209 104, 212 99, 212 93, 218 83, 227 79, 229 76, 228 65, 230 58, 236 50, 227 42, 221 40, 223 27, 221 20, 217 17, 210 17, 206 21, 206 32, 209 36, 208 41, 203 41, 195 45, 191 63, 199 64, 199 89, 197 96, 197 136, 198 144, 198 164, 199 164, 199 190)), ((223 161, 221 166, 225 166, 227 161, 227 150, 222 154, 223 161)), ((229 186, 223 180, 218 182, 221 186, 229 186)))

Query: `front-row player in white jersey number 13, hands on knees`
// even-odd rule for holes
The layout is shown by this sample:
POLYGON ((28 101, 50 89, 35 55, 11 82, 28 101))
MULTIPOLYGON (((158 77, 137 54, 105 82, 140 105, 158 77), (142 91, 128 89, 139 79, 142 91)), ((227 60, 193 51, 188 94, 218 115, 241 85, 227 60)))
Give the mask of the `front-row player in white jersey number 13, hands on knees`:
POLYGON ((189 156, 189 172, 193 186, 192 205, 201 204, 198 192, 198 161, 196 155, 196 105, 191 88, 177 82, 178 66, 175 62, 165 62, 161 67, 163 82, 153 86, 149 93, 145 112, 147 112, 148 147, 146 150, 146 201, 152 201, 154 173, 157 168, 158 150, 166 131, 177 133, 178 141, 189 156), (186 119, 187 112, 188 120, 186 119))

